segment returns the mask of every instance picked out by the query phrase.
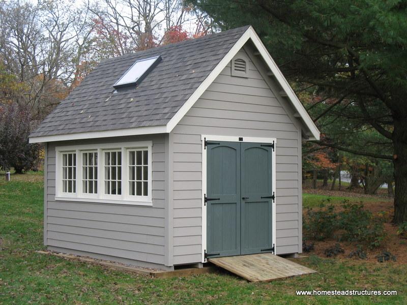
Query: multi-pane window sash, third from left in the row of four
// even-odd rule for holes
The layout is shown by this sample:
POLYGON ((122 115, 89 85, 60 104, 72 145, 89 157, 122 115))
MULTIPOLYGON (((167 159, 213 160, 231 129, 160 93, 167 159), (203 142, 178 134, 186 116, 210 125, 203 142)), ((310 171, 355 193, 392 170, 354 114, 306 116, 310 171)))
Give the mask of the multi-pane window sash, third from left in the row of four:
POLYGON ((122 151, 105 151, 105 194, 122 194, 122 151))

